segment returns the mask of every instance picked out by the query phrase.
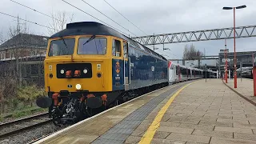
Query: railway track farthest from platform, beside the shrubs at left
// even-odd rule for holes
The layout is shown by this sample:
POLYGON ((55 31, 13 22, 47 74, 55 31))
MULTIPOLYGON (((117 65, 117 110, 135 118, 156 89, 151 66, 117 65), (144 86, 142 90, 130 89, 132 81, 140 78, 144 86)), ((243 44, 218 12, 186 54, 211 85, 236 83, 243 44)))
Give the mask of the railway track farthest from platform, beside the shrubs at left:
POLYGON ((37 126, 42 126, 51 122, 48 113, 34 115, 28 118, 21 118, 12 122, 0 124, 0 139, 19 134, 24 130, 30 130, 37 126))

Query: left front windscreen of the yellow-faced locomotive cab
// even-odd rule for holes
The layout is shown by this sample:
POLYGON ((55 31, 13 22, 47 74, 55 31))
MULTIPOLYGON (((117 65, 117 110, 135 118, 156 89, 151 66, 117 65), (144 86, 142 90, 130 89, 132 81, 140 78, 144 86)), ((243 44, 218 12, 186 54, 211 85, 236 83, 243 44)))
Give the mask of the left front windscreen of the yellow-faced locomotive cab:
POLYGON ((74 53, 74 38, 62 38, 50 42, 48 56, 70 55, 74 53))

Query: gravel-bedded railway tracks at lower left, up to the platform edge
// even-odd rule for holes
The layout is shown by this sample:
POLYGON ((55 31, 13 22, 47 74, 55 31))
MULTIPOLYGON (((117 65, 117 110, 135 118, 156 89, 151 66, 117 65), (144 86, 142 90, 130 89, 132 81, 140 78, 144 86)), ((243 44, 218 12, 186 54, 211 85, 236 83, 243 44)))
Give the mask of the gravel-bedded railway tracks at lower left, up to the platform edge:
POLYGON ((33 143, 66 127, 54 126, 48 113, 38 114, 0 124, 0 143, 33 143))

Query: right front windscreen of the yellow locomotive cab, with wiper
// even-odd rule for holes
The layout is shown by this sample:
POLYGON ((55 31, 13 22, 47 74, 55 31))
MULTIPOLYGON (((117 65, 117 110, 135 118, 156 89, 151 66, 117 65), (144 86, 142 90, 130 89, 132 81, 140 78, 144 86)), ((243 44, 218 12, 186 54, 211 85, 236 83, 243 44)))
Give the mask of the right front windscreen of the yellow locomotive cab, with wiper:
POLYGON ((106 38, 79 38, 78 54, 106 54, 106 38))

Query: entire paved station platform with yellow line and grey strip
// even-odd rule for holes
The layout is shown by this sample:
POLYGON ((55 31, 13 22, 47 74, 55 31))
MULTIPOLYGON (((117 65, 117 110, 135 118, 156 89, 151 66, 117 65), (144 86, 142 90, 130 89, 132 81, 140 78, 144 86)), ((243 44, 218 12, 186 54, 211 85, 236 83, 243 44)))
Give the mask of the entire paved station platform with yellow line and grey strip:
POLYGON ((256 143, 255 106, 220 79, 182 82, 36 143, 256 143))

